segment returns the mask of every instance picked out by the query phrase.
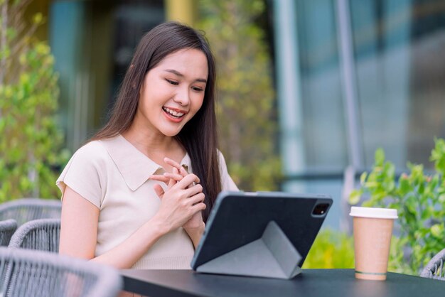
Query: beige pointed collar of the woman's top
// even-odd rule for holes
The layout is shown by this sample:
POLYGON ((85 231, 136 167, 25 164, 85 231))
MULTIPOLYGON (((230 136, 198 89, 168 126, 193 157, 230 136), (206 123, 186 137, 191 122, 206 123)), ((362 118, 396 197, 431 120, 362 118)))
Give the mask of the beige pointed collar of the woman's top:
MULTIPOLYGON (((141 153, 122 135, 111 139, 103 139, 101 142, 114 161, 114 164, 116 164, 125 183, 133 191, 144 184, 150 175, 154 173, 162 174, 164 172, 158 163, 152 161, 144 153, 141 153)), ((181 165, 188 166, 190 170, 191 159, 188 153, 182 159, 181 165)))

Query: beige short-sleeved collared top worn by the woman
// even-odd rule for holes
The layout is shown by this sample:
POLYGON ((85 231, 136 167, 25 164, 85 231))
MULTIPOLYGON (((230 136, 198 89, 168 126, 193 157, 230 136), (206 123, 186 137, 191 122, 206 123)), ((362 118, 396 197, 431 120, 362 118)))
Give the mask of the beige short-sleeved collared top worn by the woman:
MULTIPOLYGON (((223 190, 238 190, 219 154, 223 190)), ((181 165, 193 172, 188 154, 181 165)), ((120 135, 76 151, 56 183, 62 197, 68 185, 100 209, 95 256, 116 247, 156 214, 160 200, 153 185, 159 182, 149 175, 163 172, 120 135)), ((132 268, 190 269, 193 253, 193 243, 180 227, 161 237, 132 268)))

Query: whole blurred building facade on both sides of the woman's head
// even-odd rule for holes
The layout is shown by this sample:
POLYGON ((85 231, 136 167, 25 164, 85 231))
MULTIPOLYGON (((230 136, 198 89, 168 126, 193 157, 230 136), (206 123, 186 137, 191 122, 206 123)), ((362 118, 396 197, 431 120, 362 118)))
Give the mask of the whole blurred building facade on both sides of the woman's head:
MULTIPOLYGON (((36 0, 60 73, 75 150, 104 121, 141 36, 193 24, 198 0, 36 0)), ((445 136, 445 1, 265 0, 274 43, 282 189, 328 193, 339 218, 377 147, 403 169, 445 136), (343 197, 343 198, 342 198, 343 197), (342 202, 343 199, 343 202, 342 202)), ((45 36, 45 32, 41 32, 45 36)))

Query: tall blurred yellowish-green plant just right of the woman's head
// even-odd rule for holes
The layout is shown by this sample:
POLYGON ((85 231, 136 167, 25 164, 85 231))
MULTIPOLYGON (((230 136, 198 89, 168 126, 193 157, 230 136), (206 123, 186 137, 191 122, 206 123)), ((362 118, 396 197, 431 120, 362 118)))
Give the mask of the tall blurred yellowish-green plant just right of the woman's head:
POLYGON ((218 71, 220 148, 242 190, 277 190, 278 157, 272 64, 259 18, 264 0, 200 0, 203 28, 218 71))

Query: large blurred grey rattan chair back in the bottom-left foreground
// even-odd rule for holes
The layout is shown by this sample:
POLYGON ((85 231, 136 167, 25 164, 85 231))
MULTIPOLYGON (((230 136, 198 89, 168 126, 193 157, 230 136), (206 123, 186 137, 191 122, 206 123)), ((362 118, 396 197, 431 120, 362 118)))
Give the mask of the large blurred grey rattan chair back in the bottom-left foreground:
POLYGON ((0 248, 0 296, 114 297, 122 276, 82 259, 27 249, 0 248))

